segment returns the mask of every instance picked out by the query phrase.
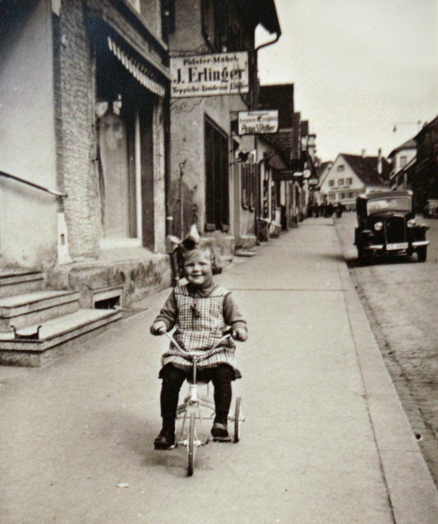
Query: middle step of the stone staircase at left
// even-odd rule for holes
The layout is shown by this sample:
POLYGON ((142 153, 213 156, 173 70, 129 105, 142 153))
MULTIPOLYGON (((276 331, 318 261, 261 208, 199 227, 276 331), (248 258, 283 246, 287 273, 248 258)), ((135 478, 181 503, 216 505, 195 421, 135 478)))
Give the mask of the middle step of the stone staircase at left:
POLYGON ((32 291, 0 298, 0 331, 45 322, 79 309, 80 293, 75 291, 32 291))

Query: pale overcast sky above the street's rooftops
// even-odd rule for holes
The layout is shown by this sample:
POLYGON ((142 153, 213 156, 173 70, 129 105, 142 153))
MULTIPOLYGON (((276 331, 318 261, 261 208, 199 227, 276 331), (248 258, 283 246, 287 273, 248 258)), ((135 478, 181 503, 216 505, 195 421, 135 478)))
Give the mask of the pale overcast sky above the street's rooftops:
POLYGON ((294 84, 322 161, 387 157, 438 115, 438 0, 275 3, 282 34, 258 52, 260 83, 294 84))

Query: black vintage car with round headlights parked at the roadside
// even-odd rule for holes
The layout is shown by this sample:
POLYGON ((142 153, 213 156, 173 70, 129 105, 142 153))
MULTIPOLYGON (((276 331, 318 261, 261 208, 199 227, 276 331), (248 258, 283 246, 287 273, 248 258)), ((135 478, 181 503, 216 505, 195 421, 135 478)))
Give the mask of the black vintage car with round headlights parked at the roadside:
POLYGON ((417 224, 412 191, 391 191, 358 196, 354 243, 357 256, 407 255, 416 252, 419 262, 427 256, 428 226, 417 224))

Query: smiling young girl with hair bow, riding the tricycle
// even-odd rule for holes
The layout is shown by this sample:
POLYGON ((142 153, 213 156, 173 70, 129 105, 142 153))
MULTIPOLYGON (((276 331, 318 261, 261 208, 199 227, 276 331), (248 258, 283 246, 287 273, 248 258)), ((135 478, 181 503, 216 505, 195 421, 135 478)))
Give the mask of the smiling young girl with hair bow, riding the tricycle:
MULTIPOLYGON (((231 296, 231 292, 213 283, 213 246, 207 239, 185 240, 179 247, 180 266, 188 283, 173 289, 160 314, 152 324, 152 335, 161 335, 176 328, 174 339, 185 351, 210 350, 231 326, 233 338, 245 342, 246 322, 231 296)), ((211 380, 214 386, 216 416, 211 433, 228 436, 227 418, 231 406, 231 381, 240 378, 234 355, 235 345, 227 339, 198 366, 200 381, 211 380)), ((160 434, 154 441, 155 449, 168 449, 175 443, 175 417, 178 397, 184 379, 191 377, 191 361, 170 344, 161 357, 159 378, 161 386, 160 434)))

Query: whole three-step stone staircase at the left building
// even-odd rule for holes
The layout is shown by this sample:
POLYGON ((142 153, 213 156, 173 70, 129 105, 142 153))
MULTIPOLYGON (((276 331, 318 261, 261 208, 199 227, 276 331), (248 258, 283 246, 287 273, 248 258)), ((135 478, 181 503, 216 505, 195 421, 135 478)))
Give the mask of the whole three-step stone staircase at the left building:
POLYGON ((44 284, 41 272, 0 271, 0 365, 46 365, 122 318, 119 309, 80 309, 80 293, 44 284))

